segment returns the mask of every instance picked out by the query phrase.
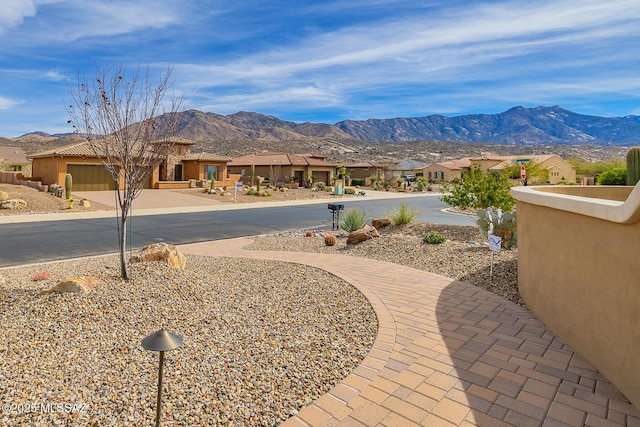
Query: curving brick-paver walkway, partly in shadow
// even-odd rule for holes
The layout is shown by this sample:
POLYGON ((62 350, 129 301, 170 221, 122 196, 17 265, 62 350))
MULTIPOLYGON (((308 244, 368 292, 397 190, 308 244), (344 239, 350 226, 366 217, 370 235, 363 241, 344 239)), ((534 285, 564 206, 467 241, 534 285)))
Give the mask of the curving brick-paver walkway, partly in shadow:
POLYGON ((473 285, 344 255, 246 251, 248 239, 184 253, 327 270, 371 302, 377 339, 339 385, 284 425, 639 426, 640 411, 528 310, 473 285))

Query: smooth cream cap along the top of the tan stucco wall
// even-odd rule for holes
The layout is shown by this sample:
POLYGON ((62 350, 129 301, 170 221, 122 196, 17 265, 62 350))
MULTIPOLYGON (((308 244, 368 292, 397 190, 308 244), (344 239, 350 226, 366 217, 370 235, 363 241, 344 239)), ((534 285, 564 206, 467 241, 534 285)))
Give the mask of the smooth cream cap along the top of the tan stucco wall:
MULTIPOLYGON (((511 194, 519 202, 574 212, 619 224, 633 224, 640 220, 640 183, 634 187, 624 202, 551 193, 545 191, 545 188, 551 187, 513 187, 511 194)), ((577 187, 572 187, 572 189, 575 188, 577 187)), ((606 189, 603 188, 603 190, 606 189)))

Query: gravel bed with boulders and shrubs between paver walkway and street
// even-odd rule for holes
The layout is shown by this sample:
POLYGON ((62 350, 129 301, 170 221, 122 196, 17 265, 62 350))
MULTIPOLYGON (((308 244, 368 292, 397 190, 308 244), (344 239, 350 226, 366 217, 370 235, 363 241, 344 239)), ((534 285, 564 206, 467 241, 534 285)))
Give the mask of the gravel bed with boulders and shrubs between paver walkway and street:
POLYGON ((356 245, 346 244, 346 233, 332 232, 338 237, 335 246, 325 246, 327 231, 316 230, 314 237, 304 237, 304 232, 260 236, 247 248, 373 258, 462 280, 525 306, 518 293, 518 250, 495 253, 491 275, 492 254, 478 227, 410 223, 383 228, 379 230, 380 237, 356 245), (447 240, 441 244, 424 243, 423 237, 431 230, 447 240))

